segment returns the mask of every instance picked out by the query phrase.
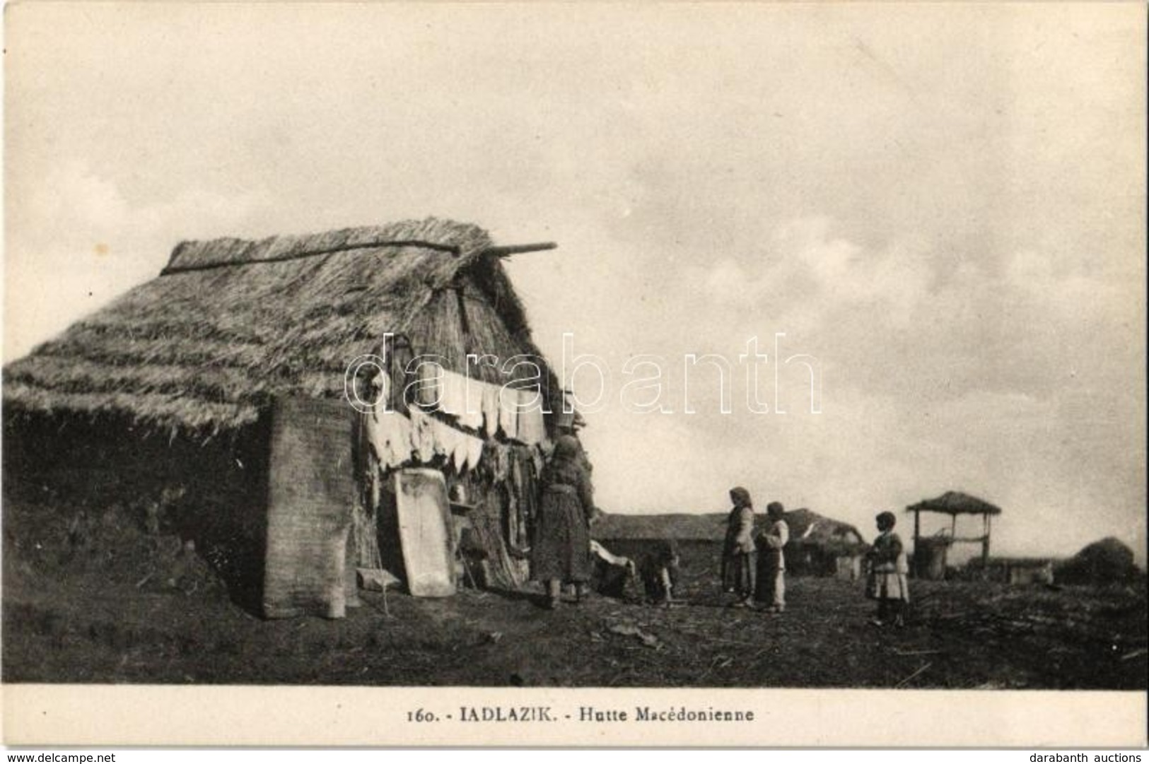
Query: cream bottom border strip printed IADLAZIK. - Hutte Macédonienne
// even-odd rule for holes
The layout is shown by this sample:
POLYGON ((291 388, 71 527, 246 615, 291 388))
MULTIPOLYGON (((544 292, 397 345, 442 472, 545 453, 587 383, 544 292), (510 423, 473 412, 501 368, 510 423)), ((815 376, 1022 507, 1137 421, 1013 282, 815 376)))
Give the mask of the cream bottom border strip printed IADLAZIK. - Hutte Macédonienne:
POLYGON ((1141 748, 1146 701, 1081 690, 8 685, 3 734, 11 746, 1141 748), (549 707, 554 720, 463 721, 464 705, 549 707), (629 720, 579 721, 584 705, 625 710, 629 720), (639 705, 742 710, 754 720, 637 721, 639 705), (418 709, 440 719, 409 721, 418 709))

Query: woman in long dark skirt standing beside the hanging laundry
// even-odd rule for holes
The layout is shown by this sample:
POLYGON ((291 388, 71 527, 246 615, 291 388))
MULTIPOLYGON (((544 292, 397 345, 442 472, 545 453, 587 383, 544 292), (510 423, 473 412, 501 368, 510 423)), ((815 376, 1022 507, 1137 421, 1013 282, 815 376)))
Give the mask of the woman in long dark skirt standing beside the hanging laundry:
POLYGON ((550 609, 558 604, 563 584, 573 584, 581 597, 591 580, 589 520, 594 497, 581 453, 577 438, 561 437, 539 477, 541 496, 531 568, 533 578, 547 584, 547 608, 550 609))

